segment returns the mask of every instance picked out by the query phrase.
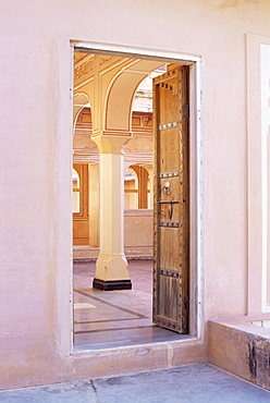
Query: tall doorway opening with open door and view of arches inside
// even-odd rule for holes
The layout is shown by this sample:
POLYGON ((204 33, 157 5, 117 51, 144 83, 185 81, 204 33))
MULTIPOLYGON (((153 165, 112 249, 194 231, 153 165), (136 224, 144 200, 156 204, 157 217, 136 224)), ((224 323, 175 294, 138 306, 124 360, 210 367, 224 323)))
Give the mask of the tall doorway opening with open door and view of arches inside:
MULTIPOLYGON (((189 112, 195 76, 192 61, 74 49, 76 350, 199 335, 196 138, 189 112), (123 254, 131 278, 123 281, 132 289, 105 291, 93 286, 100 249, 114 236, 101 233, 100 204, 107 195, 100 191, 100 164, 101 155, 116 154, 119 144, 123 172, 107 166, 107 173, 123 190, 123 254)), ((109 221, 113 211, 106 216, 109 221)))

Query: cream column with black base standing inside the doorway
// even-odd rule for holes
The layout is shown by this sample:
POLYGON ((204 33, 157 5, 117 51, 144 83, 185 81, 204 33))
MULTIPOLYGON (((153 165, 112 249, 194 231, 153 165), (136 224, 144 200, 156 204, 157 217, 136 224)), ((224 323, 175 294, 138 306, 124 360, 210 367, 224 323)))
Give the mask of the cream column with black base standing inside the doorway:
POLYGON ((124 254, 124 157, 121 147, 110 152, 100 147, 100 253, 93 286, 100 290, 131 289, 124 254))

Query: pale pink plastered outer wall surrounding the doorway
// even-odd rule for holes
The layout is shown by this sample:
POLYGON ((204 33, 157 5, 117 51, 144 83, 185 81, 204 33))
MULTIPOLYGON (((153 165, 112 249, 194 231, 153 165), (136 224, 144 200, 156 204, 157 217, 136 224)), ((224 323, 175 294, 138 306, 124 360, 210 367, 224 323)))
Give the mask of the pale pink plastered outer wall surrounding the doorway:
POLYGON ((269 13, 268 0, 2 2, 2 388, 180 363, 176 350, 70 354, 71 40, 201 56, 205 319, 246 314, 246 34, 270 36, 269 13))

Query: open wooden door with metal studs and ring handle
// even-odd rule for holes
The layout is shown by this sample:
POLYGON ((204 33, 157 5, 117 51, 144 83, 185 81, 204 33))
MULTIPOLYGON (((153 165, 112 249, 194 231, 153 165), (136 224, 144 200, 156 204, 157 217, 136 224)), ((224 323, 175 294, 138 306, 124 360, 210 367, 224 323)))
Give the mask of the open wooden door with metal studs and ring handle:
POLYGON ((188 66, 154 80, 154 322, 188 331, 188 66))

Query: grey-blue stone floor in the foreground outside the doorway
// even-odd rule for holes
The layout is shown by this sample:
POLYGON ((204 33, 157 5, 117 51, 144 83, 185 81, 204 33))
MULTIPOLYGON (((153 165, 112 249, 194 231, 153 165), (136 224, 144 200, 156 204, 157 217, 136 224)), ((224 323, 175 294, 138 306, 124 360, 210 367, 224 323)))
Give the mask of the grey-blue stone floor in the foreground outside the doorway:
POLYGON ((0 392, 8 403, 262 403, 270 392, 209 364, 0 392))

